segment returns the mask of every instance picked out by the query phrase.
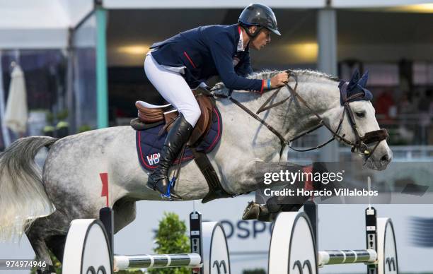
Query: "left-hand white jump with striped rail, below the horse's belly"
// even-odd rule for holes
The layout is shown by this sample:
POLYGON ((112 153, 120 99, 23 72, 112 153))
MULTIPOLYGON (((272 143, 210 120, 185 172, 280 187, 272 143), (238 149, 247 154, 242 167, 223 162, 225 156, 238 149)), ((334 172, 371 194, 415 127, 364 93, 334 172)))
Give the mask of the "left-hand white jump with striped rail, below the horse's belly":
POLYGON ((202 215, 190 214, 190 254, 114 255, 113 213, 100 210, 100 220, 71 222, 64 247, 63 274, 112 274, 131 268, 188 267, 192 273, 230 273, 226 234, 218 222, 202 222, 202 215))

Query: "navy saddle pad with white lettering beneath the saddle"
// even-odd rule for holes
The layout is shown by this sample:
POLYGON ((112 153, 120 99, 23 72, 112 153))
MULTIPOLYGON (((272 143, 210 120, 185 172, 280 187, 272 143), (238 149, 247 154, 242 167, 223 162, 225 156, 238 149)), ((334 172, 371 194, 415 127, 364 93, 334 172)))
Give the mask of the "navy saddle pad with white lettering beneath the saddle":
MULTIPOLYGON (((139 155, 139 162, 142 167, 146 170, 151 171, 158 166, 160 151, 163 147, 164 141, 166 141, 167 131, 159 136, 158 133, 161 131, 164 125, 155 126, 151 129, 144 129, 142 131, 136 131, 136 143, 137 153, 139 155)), ((222 133, 222 119, 219 110, 214 107, 212 113, 212 126, 209 129, 200 144, 197 145, 197 150, 204 151, 204 153, 211 152, 219 140, 221 139, 222 133)), ((181 162, 192 160, 194 156, 189 148, 185 149, 185 153, 181 159, 181 162)), ((175 160, 175 164, 178 164, 179 159, 175 160)))

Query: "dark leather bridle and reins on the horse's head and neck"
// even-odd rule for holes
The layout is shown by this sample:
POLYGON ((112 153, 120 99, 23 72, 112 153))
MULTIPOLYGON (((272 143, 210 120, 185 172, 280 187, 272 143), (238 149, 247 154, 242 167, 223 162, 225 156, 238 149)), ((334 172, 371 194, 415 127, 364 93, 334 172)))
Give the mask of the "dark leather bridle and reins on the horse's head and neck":
POLYGON ((360 136, 359 131, 358 131, 358 127, 357 127, 357 123, 354 119, 354 115, 353 115, 352 109, 349 106, 349 103, 354 101, 354 100, 359 100, 359 98, 364 97, 364 93, 362 93, 362 92, 356 93, 354 95, 351 95, 350 97, 347 97, 347 93, 345 92, 345 89, 347 88, 347 83, 344 84, 345 86, 342 89, 340 89, 340 95, 341 95, 342 105, 343 105, 344 109, 342 111, 341 118, 340 118, 340 121, 338 123, 337 129, 333 130, 331 128, 331 126, 325 122, 325 120, 321 117, 321 115, 318 114, 317 112, 315 112, 310 107, 310 105, 308 105, 308 102, 306 102, 304 100, 304 98, 301 97, 301 95, 299 95, 299 93, 297 93, 296 90, 298 88, 298 76, 296 75, 296 73, 294 73, 294 71, 287 70, 287 74, 289 75, 289 78, 292 77, 292 78, 294 78, 294 81, 295 81, 294 88, 291 88, 291 86, 288 83, 286 83, 286 86, 289 89, 290 95, 287 98, 285 98, 284 100, 276 102, 275 104, 272 104, 272 105, 268 105, 271 102, 271 100, 277 96, 277 94, 279 93, 279 90, 281 90, 282 87, 278 88, 277 90, 275 90, 275 92, 269 98, 267 98, 267 100, 260 106, 260 108, 258 109, 258 111, 256 113, 251 112, 250 109, 248 109, 247 107, 242 105, 241 102, 238 102, 238 100, 231 97, 232 90, 230 90, 229 95, 217 95, 216 94, 215 96, 229 98, 229 100, 231 100, 231 102, 238 105, 238 107, 241 107, 241 109, 243 109, 245 112, 250 114, 251 117, 260 121, 261 124, 266 126, 267 129, 269 129, 272 133, 274 133, 275 136, 277 136, 279 138, 279 142, 281 143, 281 150, 279 151, 279 157, 280 158, 281 158, 282 152, 286 146, 291 148, 291 150, 295 150, 298 152, 306 152, 306 151, 316 150, 318 148, 323 148, 325 145, 328 145, 328 143, 334 141, 337 138, 337 140, 340 140, 343 143, 350 145, 350 147, 352 148, 351 149, 352 153, 358 152, 359 154, 364 156, 364 159, 365 159, 364 165, 365 165, 365 163, 369 159, 369 157, 371 157, 371 155, 373 155, 374 150, 376 150, 379 143, 381 143, 381 141, 386 140, 388 138, 388 131, 386 131, 386 129, 379 129, 377 131, 366 132, 364 134, 364 136, 360 136), (294 138, 287 140, 274 127, 272 127, 270 124, 267 124, 266 121, 264 121, 263 119, 258 117, 257 114, 260 114, 260 112, 264 112, 267 109, 272 109, 273 107, 277 107, 278 105, 282 105, 284 102, 289 100, 291 97, 297 98, 299 100, 299 102, 301 102, 312 114, 314 114, 319 119, 319 122, 316 126, 313 127, 313 129, 310 129, 304 133, 299 134, 298 136, 295 136, 294 138), (349 117, 350 126, 352 127, 352 131, 354 131, 354 136, 355 136, 354 142, 347 140, 347 138, 345 138, 345 134, 340 135, 340 129, 342 126, 342 122, 345 119, 346 112, 347 112, 347 116, 349 117), (297 139, 299 139, 303 136, 306 136, 308 133, 316 131, 317 129, 321 128, 322 126, 325 126, 325 128, 328 129, 328 131, 330 131, 330 133, 333 134, 333 137, 330 138, 328 141, 325 141, 324 143, 321 143, 320 145, 317 145, 316 147, 302 149, 302 150, 294 148, 291 145, 292 142, 296 141, 297 139), (373 149, 369 148, 369 144, 371 144, 371 143, 376 143, 374 145, 373 149))

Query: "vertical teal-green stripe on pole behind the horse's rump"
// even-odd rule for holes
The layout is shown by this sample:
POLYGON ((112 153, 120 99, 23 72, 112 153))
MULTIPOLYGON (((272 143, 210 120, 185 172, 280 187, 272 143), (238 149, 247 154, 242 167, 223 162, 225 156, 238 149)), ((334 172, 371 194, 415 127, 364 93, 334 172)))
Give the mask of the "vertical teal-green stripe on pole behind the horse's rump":
POLYGON ((107 11, 96 8, 96 96, 98 129, 108 127, 107 11))

